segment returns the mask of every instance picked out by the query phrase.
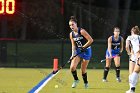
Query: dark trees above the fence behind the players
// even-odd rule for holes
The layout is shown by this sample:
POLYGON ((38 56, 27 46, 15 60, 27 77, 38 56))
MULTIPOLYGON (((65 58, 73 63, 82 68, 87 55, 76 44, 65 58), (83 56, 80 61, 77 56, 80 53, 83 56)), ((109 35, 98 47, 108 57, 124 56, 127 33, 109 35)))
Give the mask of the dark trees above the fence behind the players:
POLYGON ((140 0, 16 0, 14 15, 0 15, 0 37, 21 40, 67 39, 71 15, 94 39, 106 39, 114 26, 125 38, 140 25, 140 0), (3 34, 4 33, 4 34, 3 34))

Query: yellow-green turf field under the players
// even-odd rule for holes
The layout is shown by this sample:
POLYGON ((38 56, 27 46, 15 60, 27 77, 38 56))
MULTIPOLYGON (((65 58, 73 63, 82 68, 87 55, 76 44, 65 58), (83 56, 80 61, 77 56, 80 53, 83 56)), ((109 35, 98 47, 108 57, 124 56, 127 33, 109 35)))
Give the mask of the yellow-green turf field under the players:
MULTIPOLYGON (((0 68, 0 93, 27 93, 51 71, 51 69, 39 68, 0 68)), ((63 69, 39 93, 125 93, 129 88, 128 70, 121 71, 121 83, 116 81, 114 70, 110 70, 109 82, 106 83, 102 82, 102 69, 89 69, 87 72, 88 89, 83 87, 80 70, 78 70, 79 85, 72 89, 72 75, 69 69, 63 69), (59 87, 55 88, 55 85, 59 87)), ((140 84, 137 85, 136 93, 140 93, 139 87, 140 84)))

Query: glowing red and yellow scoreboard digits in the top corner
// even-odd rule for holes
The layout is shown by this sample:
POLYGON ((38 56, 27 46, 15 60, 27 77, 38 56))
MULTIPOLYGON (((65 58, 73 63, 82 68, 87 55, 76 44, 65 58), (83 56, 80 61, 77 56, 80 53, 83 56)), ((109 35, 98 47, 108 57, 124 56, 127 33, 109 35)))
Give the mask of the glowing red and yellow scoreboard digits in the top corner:
POLYGON ((0 0, 0 14, 14 14, 15 0, 0 0))

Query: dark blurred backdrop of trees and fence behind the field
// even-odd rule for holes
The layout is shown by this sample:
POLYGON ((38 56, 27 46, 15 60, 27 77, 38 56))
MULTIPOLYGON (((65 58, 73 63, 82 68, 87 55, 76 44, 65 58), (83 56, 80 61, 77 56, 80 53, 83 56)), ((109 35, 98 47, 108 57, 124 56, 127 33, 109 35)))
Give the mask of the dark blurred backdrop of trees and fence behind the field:
MULTIPOLYGON (((140 0, 13 1, 13 14, 0 13, 0 67, 52 68, 54 58, 59 59, 59 66, 67 62, 71 56, 68 22, 74 15, 79 27, 94 39, 88 68, 103 68, 100 61, 105 58, 113 27, 120 27, 125 40, 130 29, 140 24, 140 0)), ((9 9, 12 6, 10 2, 9 9)), ((121 67, 128 68, 125 47, 121 67)))

